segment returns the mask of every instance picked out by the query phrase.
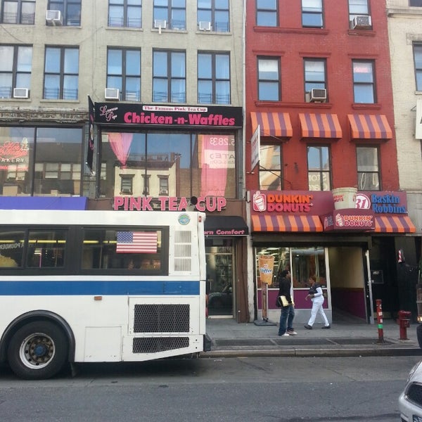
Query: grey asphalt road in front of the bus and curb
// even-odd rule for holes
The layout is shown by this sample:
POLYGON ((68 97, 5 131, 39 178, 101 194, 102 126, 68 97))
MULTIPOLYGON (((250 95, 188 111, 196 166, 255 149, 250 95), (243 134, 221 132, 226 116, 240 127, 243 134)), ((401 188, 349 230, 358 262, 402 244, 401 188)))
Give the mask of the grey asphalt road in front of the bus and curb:
POLYGON ((418 357, 247 357, 84 364, 48 381, 0 372, 0 420, 392 422, 418 357))

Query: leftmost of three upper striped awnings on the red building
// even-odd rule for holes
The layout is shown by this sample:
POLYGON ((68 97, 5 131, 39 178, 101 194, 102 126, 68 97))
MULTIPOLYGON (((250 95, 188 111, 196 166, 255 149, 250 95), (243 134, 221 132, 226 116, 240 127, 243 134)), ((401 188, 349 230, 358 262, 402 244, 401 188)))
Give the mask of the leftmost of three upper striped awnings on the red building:
POLYGON ((260 125, 261 136, 278 136, 291 138, 293 136, 292 124, 288 113, 250 113, 252 132, 260 125))

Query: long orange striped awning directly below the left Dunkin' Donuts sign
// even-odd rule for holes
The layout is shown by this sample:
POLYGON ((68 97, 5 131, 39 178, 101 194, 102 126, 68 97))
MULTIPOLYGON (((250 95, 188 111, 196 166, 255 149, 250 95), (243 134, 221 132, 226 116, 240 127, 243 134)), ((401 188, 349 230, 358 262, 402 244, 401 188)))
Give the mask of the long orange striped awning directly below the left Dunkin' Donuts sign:
POLYGON ((323 231, 318 215, 252 215, 252 231, 323 231))

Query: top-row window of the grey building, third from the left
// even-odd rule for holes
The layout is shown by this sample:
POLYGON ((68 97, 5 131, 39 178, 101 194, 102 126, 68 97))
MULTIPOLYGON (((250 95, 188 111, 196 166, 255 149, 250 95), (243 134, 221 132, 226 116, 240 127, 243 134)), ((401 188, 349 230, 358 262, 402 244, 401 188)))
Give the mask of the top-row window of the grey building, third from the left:
POLYGON ((108 0, 109 27, 142 27, 142 0, 108 0))

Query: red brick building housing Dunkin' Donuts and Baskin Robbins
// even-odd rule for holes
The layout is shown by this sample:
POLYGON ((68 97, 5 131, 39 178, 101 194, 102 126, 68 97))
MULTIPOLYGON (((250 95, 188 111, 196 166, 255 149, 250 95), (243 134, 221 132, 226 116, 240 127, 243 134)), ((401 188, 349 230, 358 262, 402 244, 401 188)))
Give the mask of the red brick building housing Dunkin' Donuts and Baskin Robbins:
POLYGON ((312 275, 327 288, 334 322, 343 312, 372 321, 376 299, 387 316, 407 302, 401 280, 409 274, 397 257, 405 249, 416 264, 415 228, 398 191, 390 75, 385 1, 246 1, 245 168, 257 318, 278 315, 275 285, 262 300, 262 254, 275 257, 275 270, 292 270, 299 321, 309 316, 312 275), (351 189, 333 196, 335 188, 351 189))

